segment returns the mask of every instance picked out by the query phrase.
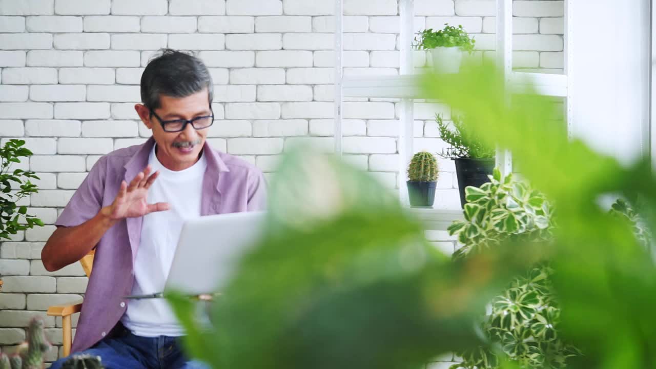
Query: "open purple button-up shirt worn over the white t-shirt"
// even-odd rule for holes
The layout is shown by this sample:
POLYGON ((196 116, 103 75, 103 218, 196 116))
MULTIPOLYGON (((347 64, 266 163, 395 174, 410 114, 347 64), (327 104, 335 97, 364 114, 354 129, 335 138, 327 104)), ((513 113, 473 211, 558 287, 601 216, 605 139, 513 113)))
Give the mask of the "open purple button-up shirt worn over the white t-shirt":
MULTIPOLYGON (((55 225, 80 225, 94 217, 101 207, 112 204, 121 181, 130 183, 146 168, 154 144, 151 137, 142 145, 115 150, 100 158, 55 225)), ((201 215, 264 209, 266 183, 255 165, 218 152, 207 142, 203 155, 207 160, 207 169, 203 177, 201 215)), ((121 303, 125 302, 123 296, 132 292, 133 263, 139 248, 141 224, 142 217, 124 219, 110 228, 96 245, 93 272, 77 323, 72 352, 96 344, 110 333, 125 313, 127 303, 121 303)))

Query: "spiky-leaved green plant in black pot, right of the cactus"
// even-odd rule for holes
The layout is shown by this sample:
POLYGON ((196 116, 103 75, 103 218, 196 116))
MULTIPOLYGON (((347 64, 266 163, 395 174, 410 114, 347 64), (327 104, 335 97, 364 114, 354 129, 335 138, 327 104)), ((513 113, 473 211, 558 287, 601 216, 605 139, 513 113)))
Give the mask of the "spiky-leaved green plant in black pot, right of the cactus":
POLYGON ((460 203, 464 207, 465 188, 467 186, 480 187, 489 181, 489 175, 495 165, 495 149, 483 144, 468 125, 458 116, 453 116, 453 129, 444 123, 441 116, 436 114, 441 139, 451 147, 443 150, 442 158, 455 161, 455 171, 458 177, 460 190, 460 203))

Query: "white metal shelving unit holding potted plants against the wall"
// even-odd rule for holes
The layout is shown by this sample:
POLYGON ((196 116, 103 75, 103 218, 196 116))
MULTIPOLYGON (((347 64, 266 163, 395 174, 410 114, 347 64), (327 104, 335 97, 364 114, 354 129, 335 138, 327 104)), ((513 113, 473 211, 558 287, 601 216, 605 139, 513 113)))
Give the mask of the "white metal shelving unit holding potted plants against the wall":
MULTIPOLYGON (((512 0, 497 0, 497 62, 504 66, 506 87, 509 90, 533 85, 541 95, 564 97, 565 119, 571 127, 571 18, 570 3, 565 0, 565 74, 541 74, 512 71, 512 0)), ((399 0, 401 18, 400 74, 398 76, 344 77, 342 74, 342 17, 343 0, 335 0, 335 152, 342 153, 342 103, 344 97, 400 98, 399 173, 405 173, 405 165, 413 151, 413 99, 420 98, 417 78, 413 74, 411 45, 413 41, 414 0, 399 0)), ((510 103, 510 101, 508 101, 510 103)), ((503 173, 512 171, 512 155, 506 150, 497 151, 497 165, 503 173)), ((407 192, 400 181, 399 196, 407 203, 407 192)), ((413 209, 430 230, 445 230, 455 219, 462 219, 461 210, 413 209)))

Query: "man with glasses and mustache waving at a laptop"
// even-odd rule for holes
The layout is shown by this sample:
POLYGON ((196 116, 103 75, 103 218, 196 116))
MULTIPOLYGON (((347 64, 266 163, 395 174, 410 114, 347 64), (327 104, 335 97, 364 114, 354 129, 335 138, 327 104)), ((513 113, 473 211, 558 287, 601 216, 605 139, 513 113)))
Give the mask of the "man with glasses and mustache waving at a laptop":
POLYGON ((109 369, 197 367, 180 350, 184 331, 166 301, 125 296, 163 290, 186 219, 265 206, 262 173, 205 142, 212 98, 198 58, 167 49, 152 59, 134 106, 152 137, 100 158, 57 219, 45 269, 96 249, 73 353, 99 355, 109 369))

